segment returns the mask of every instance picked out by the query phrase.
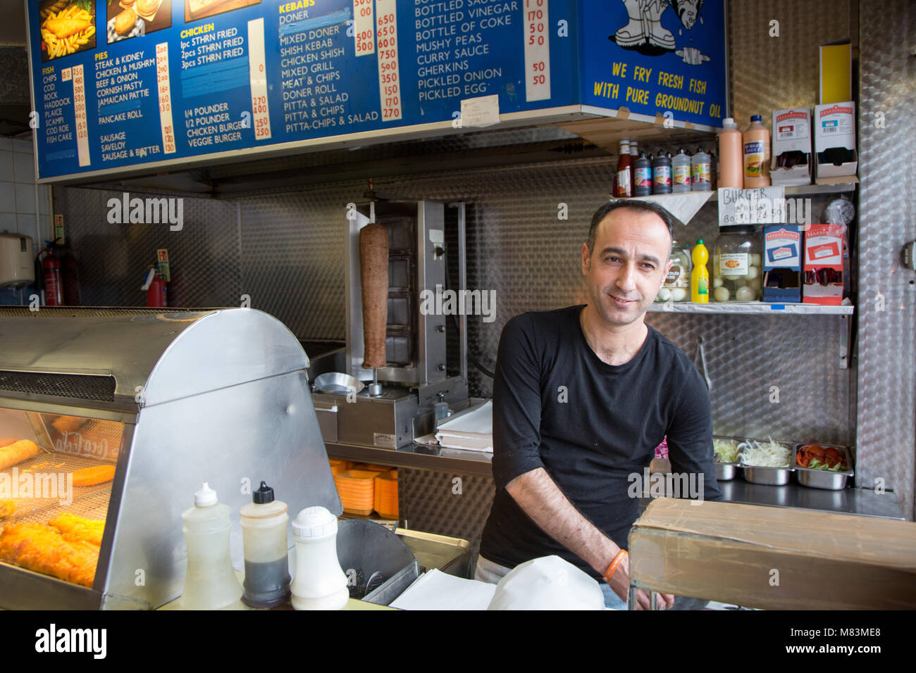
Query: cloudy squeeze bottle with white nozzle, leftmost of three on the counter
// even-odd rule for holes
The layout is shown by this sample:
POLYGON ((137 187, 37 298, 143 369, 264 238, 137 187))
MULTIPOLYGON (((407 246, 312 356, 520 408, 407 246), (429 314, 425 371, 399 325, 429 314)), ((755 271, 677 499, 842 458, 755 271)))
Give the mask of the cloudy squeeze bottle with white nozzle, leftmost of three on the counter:
POLYGON ((204 482, 194 494, 194 506, 181 514, 188 544, 188 572, 181 592, 185 610, 244 610, 242 585, 229 556, 229 506, 216 501, 216 492, 204 482))

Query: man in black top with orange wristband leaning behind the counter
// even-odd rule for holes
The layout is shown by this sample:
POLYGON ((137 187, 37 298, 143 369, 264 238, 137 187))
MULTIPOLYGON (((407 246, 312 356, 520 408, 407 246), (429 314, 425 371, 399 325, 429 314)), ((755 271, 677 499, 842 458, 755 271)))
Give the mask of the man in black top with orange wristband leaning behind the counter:
MULTIPOLYGON (((704 499, 722 499, 703 379, 643 320, 671 267, 671 242, 660 206, 607 203, 582 249, 590 302, 507 322, 493 383, 496 498, 477 580, 556 554, 602 583, 608 607, 626 607, 625 550, 638 517, 630 475, 642 483, 665 435, 672 472, 694 475, 704 499)), ((673 596, 660 598, 671 608, 673 596)), ((638 607, 649 608, 647 592, 638 607)))

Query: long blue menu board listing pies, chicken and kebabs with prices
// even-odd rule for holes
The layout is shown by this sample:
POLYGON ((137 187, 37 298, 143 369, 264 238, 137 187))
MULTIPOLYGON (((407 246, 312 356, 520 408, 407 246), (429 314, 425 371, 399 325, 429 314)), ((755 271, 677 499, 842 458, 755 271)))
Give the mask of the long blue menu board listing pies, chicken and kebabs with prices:
POLYGON ((582 11, 579 0, 27 0, 38 177, 403 136, 472 125, 481 108, 536 118, 583 103, 582 11))

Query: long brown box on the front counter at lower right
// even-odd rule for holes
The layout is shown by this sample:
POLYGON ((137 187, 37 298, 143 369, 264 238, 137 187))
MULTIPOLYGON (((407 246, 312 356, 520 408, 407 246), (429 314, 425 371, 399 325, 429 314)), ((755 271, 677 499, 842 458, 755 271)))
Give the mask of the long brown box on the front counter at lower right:
POLYGON ((916 524, 660 498, 629 535, 640 588, 770 610, 916 608, 916 524))

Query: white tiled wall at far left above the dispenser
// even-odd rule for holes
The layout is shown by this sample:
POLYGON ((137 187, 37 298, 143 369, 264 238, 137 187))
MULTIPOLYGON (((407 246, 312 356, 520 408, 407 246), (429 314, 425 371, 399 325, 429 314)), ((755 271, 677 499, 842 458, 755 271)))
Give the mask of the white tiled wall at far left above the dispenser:
POLYGON ((50 212, 49 187, 35 184, 31 141, 0 138, 0 232, 31 236, 38 253, 51 236, 50 212))

